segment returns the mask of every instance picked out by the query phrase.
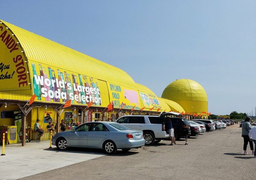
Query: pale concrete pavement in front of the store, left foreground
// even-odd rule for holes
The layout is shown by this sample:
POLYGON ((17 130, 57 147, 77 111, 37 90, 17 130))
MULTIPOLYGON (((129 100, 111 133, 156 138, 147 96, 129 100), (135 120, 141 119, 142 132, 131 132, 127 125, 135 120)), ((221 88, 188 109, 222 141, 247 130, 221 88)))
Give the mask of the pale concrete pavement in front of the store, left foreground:
MULTIPOLYGON (((49 146, 50 141, 28 142, 26 146, 6 145, 6 156, 0 156, 0 180, 18 179, 105 155, 98 150, 59 151, 56 146, 52 149, 49 146)), ((2 146, 0 151, 2 153, 2 146)))

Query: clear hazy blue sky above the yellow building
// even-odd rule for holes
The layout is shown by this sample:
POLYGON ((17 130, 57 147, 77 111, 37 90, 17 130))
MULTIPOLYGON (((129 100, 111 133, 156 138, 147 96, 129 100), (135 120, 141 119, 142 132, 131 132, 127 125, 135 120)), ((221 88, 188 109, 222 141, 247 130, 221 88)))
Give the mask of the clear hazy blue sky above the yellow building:
POLYGON ((208 111, 256 106, 256 1, 2 1, 0 19, 126 71, 161 96, 176 79, 208 111))

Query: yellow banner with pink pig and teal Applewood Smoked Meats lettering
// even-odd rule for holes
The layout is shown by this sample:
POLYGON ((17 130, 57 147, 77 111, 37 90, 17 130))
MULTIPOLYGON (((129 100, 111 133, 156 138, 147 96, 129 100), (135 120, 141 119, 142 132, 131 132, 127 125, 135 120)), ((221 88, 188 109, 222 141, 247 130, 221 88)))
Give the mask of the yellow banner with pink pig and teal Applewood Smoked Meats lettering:
POLYGON ((117 84, 107 83, 108 91, 110 93, 110 102, 113 101, 114 108, 139 110, 142 105, 139 99, 138 90, 120 86, 117 84))

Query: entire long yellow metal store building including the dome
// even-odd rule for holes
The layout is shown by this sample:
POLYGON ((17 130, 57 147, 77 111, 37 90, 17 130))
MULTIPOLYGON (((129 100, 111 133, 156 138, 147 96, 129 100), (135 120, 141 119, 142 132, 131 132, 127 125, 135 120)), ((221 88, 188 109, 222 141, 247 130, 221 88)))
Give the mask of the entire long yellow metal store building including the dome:
POLYGON ((0 112, 14 112, 3 116, 0 126, 13 126, 22 118, 33 127, 41 119, 46 129, 49 121, 64 119, 71 128, 76 122, 114 120, 131 109, 134 114, 207 111, 207 95, 192 80, 171 83, 160 98, 117 67, 2 20, 0 58, 0 112), (34 94, 34 103, 26 106, 34 94), (69 100, 71 107, 62 110, 69 100), (113 110, 108 112, 110 103, 113 110))

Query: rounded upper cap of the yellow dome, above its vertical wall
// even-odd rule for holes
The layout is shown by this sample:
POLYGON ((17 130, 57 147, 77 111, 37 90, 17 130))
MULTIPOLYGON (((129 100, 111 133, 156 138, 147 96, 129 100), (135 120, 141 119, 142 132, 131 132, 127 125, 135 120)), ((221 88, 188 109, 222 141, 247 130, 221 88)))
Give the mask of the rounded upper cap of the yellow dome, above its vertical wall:
POLYGON ((162 97, 172 101, 208 101, 206 91, 196 81, 178 79, 170 83, 162 93, 162 97))

